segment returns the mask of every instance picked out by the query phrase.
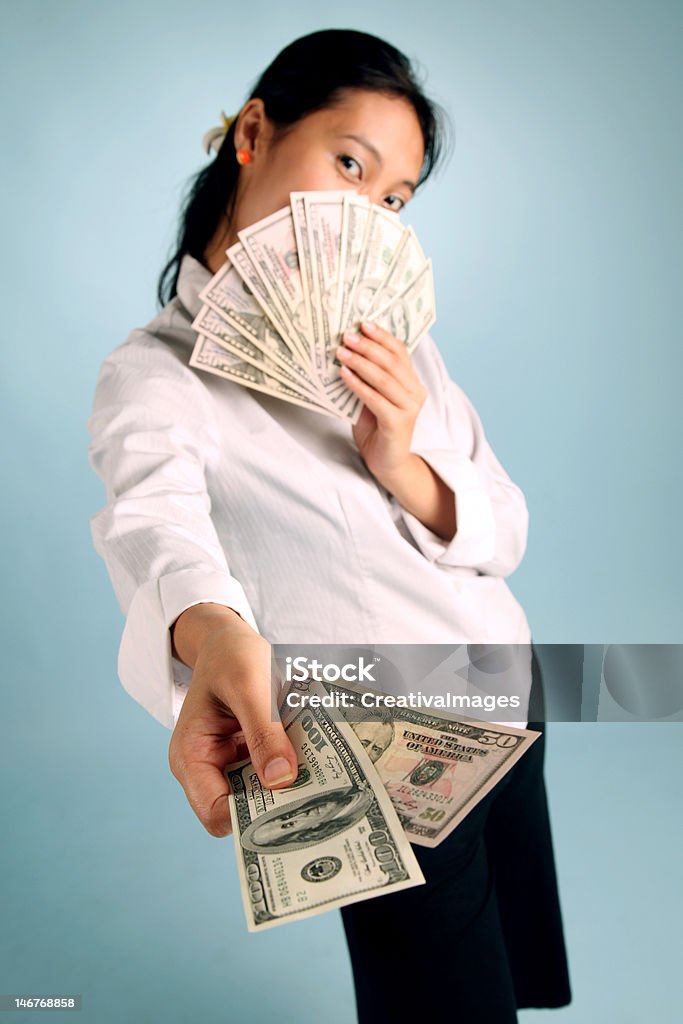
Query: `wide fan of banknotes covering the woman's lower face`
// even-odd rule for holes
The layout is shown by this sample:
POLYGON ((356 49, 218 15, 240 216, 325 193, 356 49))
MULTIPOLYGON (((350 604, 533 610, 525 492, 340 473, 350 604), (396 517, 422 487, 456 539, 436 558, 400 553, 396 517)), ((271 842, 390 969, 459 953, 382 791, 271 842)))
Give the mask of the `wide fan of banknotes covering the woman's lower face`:
POLYGON ((435 319, 415 231, 355 191, 318 190, 291 193, 238 238, 200 293, 190 366, 355 423, 342 333, 372 318, 413 352, 435 319))

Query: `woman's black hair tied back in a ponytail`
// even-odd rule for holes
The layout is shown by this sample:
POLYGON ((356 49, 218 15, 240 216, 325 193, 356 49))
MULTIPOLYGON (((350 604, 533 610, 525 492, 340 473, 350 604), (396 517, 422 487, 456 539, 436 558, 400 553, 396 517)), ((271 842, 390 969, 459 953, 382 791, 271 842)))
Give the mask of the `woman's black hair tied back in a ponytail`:
MULTIPOLYGON (((425 157, 418 184, 439 161, 447 122, 438 104, 427 99, 409 58, 377 36, 350 29, 326 29, 302 36, 278 54, 251 91, 263 100, 278 138, 297 121, 334 105, 349 89, 370 89, 402 96, 414 108, 424 139, 425 157)), ((190 179, 182 205, 175 252, 161 272, 162 305, 176 294, 185 254, 202 261, 220 218, 229 216, 240 165, 234 159, 234 122, 207 167, 190 179)))

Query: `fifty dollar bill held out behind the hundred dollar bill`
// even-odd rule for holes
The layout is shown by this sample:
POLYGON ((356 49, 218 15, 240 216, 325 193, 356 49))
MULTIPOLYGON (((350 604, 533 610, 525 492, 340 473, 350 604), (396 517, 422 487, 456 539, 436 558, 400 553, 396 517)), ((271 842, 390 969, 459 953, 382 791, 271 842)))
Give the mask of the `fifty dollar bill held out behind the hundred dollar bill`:
POLYGON ((354 684, 294 684, 299 694, 316 694, 317 686, 366 748, 405 835, 418 846, 442 843, 541 735, 403 707, 395 694, 354 684), (366 697, 369 710, 364 694, 372 696, 366 697))

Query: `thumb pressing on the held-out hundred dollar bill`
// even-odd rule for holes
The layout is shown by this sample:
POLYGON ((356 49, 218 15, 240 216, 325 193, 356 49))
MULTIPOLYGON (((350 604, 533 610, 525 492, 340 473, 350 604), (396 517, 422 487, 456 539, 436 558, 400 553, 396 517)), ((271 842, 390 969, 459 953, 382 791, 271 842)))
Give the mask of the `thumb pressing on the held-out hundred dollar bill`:
POLYGON ((279 718, 273 721, 269 688, 256 693, 243 690, 237 705, 234 700, 233 711, 261 782, 268 788, 293 782, 298 759, 283 723, 279 718))

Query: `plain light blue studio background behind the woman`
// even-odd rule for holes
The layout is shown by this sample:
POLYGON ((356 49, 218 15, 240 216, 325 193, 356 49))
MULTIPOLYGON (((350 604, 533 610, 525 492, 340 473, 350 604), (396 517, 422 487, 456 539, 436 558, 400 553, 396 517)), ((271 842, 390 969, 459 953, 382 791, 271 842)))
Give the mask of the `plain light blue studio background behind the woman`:
MULTIPOLYGON (((386 36, 455 123, 407 219, 434 260, 434 335, 527 496, 511 583, 535 640, 680 642, 681 5, 0 9, 0 992, 83 992, 97 1024, 350 1024, 338 916, 246 933, 231 840, 204 834, 169 734, 117 683, 122 620, 88 528, 97 370, 155 311, 220 110, 305 32, 386 36)), ((680 1020, 680 740, 551 726, 574 1002, 524 1019, 680 1020)))

